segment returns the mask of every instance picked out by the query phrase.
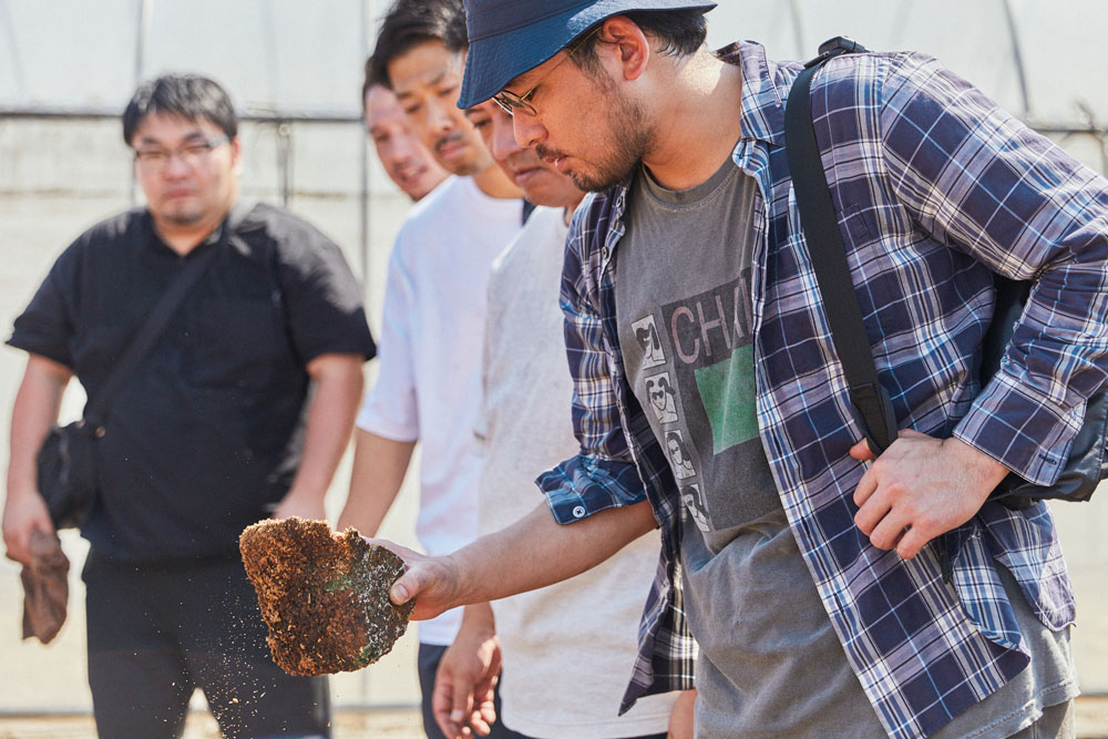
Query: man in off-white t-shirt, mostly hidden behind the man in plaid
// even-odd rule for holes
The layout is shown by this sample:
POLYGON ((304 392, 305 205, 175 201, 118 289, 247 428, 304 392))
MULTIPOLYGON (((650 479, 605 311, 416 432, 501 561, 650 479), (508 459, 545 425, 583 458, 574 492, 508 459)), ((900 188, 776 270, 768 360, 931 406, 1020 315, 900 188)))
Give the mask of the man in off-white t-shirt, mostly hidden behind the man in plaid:
MULTIPOLYGON (((464 50, 464 23, 455 30, 448 44, 464 50)), ((577 451, 558 286, 570 217, 584 193, 534 148, 520 146, 512 119, 492 101, 465 115, 496 164, 540 206, 493 263, 489 279, 476 430, 483 535, 531 513, 538 501, 536 473, 577 451)), ((691 695, 680 702, 676 692, 650 696, 618 715, 658 550, 657 534, 643 536, 564 583, 465 606, 435 679, 439 727, 454 738, 465 726, 480 733, 494 718, 520 736, 548 739, 665 737, 667 730, 681 736, 681 726, 690 729, 691 695), (490 705, 499 671, 501 706, 494 716, 490 705)))

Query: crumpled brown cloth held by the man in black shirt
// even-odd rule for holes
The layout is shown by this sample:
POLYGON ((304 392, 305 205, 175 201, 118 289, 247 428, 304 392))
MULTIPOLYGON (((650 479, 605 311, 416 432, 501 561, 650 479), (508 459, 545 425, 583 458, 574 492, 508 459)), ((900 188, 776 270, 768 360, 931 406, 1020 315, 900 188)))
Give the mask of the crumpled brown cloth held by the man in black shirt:
POLYGON ((69 603, 69 558, 58 534, 31 532, 31 564, 23 565, 23 638, 43 644, 58 636, 69 603))

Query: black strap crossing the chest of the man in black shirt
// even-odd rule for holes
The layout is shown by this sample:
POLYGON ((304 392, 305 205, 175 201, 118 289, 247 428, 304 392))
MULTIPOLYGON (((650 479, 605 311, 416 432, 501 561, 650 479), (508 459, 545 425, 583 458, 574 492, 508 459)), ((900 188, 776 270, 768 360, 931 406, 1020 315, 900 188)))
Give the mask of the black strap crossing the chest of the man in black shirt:
POLYGON ((104 381, 104 386, 94 399, 90 399, 84 410, 84 425, 93 435, 104 434, 104 422, 107 420, 107 406, 119 391, 120 386, 127 374, 134 370, 146 353, 154 348, 157 339, 162 336, 170 319, 181 307, 188 290, 196 284, 216 256, 223 252, 232 233, 242 223, 243 218, 250 211, 252 206, 236 205, 230 214, 224 219, 223 230, 215 247, 207 249, 204 254, 196 256, 185 265, 174 277, 170 288, 162 294, 154 309, 151 310, 146 322, 135 333, 134 338, 123 351, 123 356, 115 363, 112 373, 104 381))

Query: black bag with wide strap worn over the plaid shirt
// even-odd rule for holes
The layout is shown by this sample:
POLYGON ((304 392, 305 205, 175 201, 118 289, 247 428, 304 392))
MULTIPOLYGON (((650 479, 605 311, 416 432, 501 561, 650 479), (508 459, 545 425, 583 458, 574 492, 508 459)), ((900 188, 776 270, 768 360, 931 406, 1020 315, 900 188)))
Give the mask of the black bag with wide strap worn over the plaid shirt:
MULTIPOLYGON (((812 76, 823 62, 842 53, 864 51, 854 41, 838 37, 824 42, 820 47, 820 55, 804 65, 789 92, 786 106, 786 147, 812 269, 828 312, 835 353, 850 386, 854 420, 865 433, 870 449, 880 454, 896 439, 896 418, 873 365, 858 296, 850 279, 847 250, 823 173, 811 107, 812 76)), ((982 384, 999 368, 1032 288, 1030 283, 1014 281, 998 275, 994 275, 994 279, 996 307, 993 322, 982 342, 982 384)), ((1074 439, 1069 460, 1055 484, 1036 485, 1010 473, 989 497, 1015 509, 1034 505, 1043 499, 1089 500, 1097 484, 1108 478, 1106 435, 1108 390, 1101 387, 1086 404, 1085 423, 1074 439)))

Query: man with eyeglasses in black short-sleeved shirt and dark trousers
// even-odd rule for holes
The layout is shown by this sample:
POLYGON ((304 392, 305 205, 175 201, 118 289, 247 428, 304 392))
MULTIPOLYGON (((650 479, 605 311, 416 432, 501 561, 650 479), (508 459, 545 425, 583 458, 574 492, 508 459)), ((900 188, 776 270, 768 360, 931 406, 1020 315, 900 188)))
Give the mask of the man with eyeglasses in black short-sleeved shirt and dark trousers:
POLYGON ((9 339, 29 359, 12 411, 8 556, 28 563, 34 530, 54 531, 35 454, 70 379, 95 398, 168 286, 208 259, 96 441, 81 534, 98 731, 181 736, 198 687, 225 736, 329 736, 326 678, 270 659, 237 544, 269 515, 325 517, 376 353, 361 290, 307 223, 236 205, 237 120, 215 82, 143 84, 123 133, 146 205, 78 237, 9 339))

